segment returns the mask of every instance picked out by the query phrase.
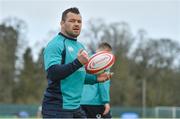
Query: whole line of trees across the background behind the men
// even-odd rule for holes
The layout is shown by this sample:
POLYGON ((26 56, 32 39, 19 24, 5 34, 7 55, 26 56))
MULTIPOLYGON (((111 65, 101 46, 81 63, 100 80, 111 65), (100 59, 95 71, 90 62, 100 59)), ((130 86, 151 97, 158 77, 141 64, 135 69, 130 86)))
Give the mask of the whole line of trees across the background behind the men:
MULTIPOLYGON (((17 68, 17 52, 24 45, 19 44, 20 30, 12 24, 0 24, 0 102, 40 104, 47 85, 43 48, 37 61, 33 61, 32 49, 26 48, 20 62, 22 68, 17 68)), ((102 41, 113 47, 113 106, 142 106, 143 90, 149 107, 180 105, 180 44, 169 38, 148 38, 146 34, 141 29, 133 35, 125 22, 106 24, 102 20, 89 21, 82 31, 82 36, 89 39, 87 49, 95 50, 102 41)))

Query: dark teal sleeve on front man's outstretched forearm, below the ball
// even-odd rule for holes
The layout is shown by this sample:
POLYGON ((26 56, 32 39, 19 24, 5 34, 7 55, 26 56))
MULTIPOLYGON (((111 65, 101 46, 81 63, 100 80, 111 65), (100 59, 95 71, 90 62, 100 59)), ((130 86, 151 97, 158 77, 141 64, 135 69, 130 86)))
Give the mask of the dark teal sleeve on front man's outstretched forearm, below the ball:
POLYGON ((91 85, 98 83, 97 75, 86 73, 86 77, 85 77, 85 82, 84 83, 85 84, 91 84, 91 85))

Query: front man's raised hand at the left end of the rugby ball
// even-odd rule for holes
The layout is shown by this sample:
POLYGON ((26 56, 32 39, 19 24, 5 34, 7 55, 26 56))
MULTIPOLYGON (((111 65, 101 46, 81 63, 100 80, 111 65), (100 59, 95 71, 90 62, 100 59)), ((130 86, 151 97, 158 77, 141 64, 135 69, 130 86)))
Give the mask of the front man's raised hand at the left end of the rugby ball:
POLYGON ((81 50, 78 52, 77 59, 79 60, 79 62, 80 62, 82 65, 85 65, 86 63, 88 63, 88 60, 89 60, 88 53, 87 53, 85 50, 81 49, 81 50))

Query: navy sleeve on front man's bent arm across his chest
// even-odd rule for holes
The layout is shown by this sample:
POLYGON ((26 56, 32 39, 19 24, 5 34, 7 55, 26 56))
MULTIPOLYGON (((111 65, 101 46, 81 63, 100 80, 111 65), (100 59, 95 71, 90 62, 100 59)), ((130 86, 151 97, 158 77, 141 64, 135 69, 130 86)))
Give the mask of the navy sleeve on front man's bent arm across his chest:
POLYGON ((78 59, 69 64, 55 64, 47 69, 47 78, 51 80, 62 80, 74 73, 83 65, 78 59))

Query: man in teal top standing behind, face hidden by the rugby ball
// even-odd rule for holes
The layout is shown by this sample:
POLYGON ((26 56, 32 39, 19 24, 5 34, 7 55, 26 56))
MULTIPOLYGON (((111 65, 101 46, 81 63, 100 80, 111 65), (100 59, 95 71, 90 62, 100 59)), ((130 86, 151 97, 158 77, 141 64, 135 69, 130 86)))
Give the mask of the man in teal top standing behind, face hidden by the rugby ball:
MULTIPOLYGON (((111 52, 112 47, 108 43, 103 42, 98 46, 97 52, 99 51, 111 52)), ((104 83, 84 85, 81 107, 88 118, 111 118, 109 89, 109 80, 104 83)))

